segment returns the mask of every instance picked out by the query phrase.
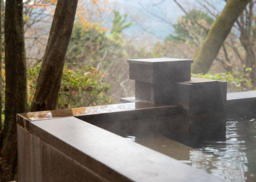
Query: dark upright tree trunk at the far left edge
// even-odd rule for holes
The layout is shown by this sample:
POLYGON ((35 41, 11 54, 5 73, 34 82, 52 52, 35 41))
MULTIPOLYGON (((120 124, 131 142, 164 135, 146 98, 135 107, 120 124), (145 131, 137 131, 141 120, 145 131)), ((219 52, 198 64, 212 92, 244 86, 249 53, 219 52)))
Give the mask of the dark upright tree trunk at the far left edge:
POLYGON ((0 180, 17 171, 16 114, 27 111, 27 79, 22 0, 5 1, 5 120, 1 142, 0 180))

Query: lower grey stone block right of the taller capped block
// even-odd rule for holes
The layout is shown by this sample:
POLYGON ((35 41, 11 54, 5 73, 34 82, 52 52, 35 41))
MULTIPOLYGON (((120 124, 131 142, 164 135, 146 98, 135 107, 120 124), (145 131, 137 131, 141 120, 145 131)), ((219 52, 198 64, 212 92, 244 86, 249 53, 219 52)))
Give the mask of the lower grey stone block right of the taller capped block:
POLYGON ((192 77, 190 81, 173 83, 171 93, 174 103, 182 104, 189 115, 225 110, 225 82, 192 77))

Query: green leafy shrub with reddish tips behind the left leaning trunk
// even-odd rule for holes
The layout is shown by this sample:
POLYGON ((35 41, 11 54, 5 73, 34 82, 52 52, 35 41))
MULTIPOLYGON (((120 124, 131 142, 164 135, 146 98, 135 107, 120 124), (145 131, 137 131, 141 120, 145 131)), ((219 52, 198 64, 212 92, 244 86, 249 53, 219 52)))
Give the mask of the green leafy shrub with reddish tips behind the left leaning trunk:
MULTIPOLYGON (((33 100, 40 64, 27 71, 29 106, 33 100)), ((111 103, 107 95, 110 85, 102 81, 103 74, 92 65, 70 70, 65 65, 59 93, 58 108, 75 108, 111 103)))

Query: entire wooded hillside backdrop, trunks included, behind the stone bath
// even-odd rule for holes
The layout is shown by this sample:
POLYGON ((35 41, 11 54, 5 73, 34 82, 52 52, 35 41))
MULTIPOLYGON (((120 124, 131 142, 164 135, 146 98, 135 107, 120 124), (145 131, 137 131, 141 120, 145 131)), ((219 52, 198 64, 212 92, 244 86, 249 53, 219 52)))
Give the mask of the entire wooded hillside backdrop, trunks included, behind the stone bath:
POLYGON ((15 178, 16 113, 133 96, 127 59, 194 58, 192 76, 227 80, 228 92, 255 90, 256 0, 65 2, 1 0, 3 181, 15 178))

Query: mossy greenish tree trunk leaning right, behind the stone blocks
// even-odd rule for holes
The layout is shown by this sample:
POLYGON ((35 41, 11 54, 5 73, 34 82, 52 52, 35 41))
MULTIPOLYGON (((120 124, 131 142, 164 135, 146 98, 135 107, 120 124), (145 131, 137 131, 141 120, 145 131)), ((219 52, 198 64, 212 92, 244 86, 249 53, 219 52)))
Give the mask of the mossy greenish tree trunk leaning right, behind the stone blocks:
POLYGON ((250 0, 228 0, 221 14, 217 17, 204 42, 193 55, 193 73, 207 73, 219 49, 229 34, 234 22, 250 0))

